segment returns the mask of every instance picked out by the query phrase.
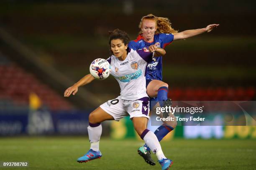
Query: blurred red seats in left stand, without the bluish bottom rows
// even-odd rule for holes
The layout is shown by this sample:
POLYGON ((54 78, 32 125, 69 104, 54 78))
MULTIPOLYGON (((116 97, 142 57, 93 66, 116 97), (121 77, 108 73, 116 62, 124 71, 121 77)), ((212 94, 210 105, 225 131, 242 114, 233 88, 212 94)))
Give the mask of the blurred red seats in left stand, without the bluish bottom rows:
POLYGON ((0 66, 0 75, 0 97, 11 97, 16 105, 28 105, 29 95, 33 92, 50 109, 63 110, 72 108, 54 90, 42 84, 31 73, 25 72, 17 65, 0 66))

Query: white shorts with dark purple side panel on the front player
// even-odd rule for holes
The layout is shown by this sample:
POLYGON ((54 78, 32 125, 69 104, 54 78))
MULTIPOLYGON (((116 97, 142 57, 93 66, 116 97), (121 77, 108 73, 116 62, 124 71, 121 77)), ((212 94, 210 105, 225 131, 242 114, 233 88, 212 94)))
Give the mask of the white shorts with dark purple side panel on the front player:
POLYGON ((147 117, 149 119, 149 97, 143 97, 138 100, 122 100, 120 96, 113 100, 100 105, 100 107, 119 121, 125 116, 133 117, 147 117))

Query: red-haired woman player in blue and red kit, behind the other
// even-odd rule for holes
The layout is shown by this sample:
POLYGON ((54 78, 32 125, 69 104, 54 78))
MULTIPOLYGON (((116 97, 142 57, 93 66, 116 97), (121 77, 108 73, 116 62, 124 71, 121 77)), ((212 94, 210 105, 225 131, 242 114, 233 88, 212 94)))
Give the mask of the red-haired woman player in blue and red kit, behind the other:
MULTIPOLYGON (((133 50, 149 49, 161 47, 164 48, 172 41, 186 39, 195 35, 202 34, 204 32, 210 32, 213 28, 218 27, 219 24, 211 24, 206 28, 196 30, 186 30, 183 32, 177 32, 171 27, 171 23, 168 18, 156 17, 152 14, 141 18, 139 23, 139 35, 136 40, 129 42, 128 47, 133 50)), ((167 101, 166 105, 170 105, 168 102, 168 84, 162 81, 162 57, 157 57, 155 60, 151 60, 147 65, 146 70, 146 89, 149 97, 156 97, 152 100, 167 101)), ((161 105, 165 107, 165 105, 161 105)), ((174 117, 174 115, 171 115, 174 117)), ((175 117, 174 117, 175 118, 175 117)), ((177 125, 176 121, 169 122, 168 125, 163 124, 154 132, 159 142, 171 132, 177 125)), ((144 158, 144 160, 150 164, 155 165, 154 160, 150 155, 150 147, 145 144, 138 149, 138 153, 144 158), (147 152, 147 150, 149 152, 147 152)))

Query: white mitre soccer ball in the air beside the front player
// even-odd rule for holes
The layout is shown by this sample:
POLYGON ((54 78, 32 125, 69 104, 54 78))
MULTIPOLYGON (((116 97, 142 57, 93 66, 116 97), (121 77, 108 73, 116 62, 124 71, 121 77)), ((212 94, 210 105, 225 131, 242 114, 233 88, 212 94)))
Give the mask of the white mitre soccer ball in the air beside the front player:
POLYGON ((90 65, 90 73, 99 80, 104 80, 110 75, 110 64, 107 60, 97 58, 90 65))

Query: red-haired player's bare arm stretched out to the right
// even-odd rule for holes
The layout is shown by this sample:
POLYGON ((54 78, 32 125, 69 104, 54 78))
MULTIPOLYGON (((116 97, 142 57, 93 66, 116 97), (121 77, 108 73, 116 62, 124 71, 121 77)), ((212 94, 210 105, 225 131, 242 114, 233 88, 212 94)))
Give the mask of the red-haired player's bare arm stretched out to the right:
POLYGON ((207 27, 201 28, 201 29, 186 30, 186 31, 178 32, 178 33, 173 34, 174 35, 173 40, 175 41, 175 40, 185 39, 185 38, 193 37, 195 35, 202 34, 204 32, 211 32, 213 30, 213 28, 216 28, 218 26, 219 26, 219 24, 211 24, 211 25, 207 25, 207 27))

